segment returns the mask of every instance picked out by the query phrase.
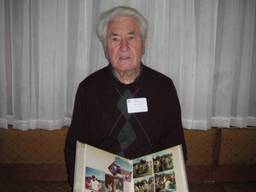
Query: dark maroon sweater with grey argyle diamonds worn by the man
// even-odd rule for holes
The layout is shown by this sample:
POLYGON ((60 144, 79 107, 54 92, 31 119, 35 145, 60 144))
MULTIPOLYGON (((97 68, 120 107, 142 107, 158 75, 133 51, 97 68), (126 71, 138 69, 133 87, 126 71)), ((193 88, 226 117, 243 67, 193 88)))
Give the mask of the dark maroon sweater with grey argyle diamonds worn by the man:
POLYGON ((180 104, 172 79, 143 66, 137 83, 121 84, 110 64, 79 84, 65 156, 73 185, 76 141, 134 159, 177 144, 187 150, 180 104), (146 97, 148 112, 128 113, 126 99, 146 97))

